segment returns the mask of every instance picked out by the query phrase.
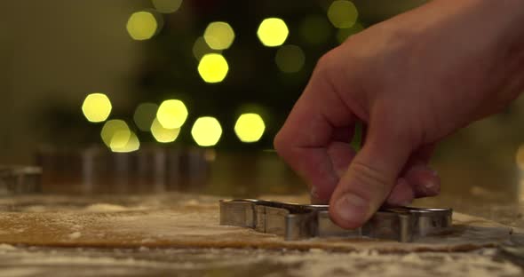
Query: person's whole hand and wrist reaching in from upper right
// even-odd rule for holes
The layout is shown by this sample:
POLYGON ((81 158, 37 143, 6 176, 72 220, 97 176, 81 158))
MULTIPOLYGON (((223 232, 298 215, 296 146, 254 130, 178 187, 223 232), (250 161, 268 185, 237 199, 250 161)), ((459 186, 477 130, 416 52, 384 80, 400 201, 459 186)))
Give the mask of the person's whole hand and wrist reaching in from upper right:
POLYGON ((433 0, 319 60, 274 139, 312 202, 355 228, 384 203, 440 193, 433 147, 524 91, 524 1, 433 0), (349 145, 361 121, 361 151, 349 145))

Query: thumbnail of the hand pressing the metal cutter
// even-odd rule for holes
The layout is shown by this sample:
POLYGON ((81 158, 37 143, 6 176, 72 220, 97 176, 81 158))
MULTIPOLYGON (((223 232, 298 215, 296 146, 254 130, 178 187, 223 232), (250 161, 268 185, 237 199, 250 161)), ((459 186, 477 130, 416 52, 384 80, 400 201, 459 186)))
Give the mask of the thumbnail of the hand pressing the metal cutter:
POLYGON ((352 225, 361 225, 368 215, 368 202, 360 196, 345 194, 335 203, 339 218, 352 225))

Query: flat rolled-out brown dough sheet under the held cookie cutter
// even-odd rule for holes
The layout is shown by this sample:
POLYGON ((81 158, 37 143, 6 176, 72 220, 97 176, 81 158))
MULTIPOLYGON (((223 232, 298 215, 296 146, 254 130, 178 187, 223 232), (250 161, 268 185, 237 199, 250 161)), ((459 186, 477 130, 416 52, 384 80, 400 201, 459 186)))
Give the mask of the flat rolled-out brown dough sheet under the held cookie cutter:
POLYGON ((219 226, 218 198, 184 197, 165 205, 134 207, 94 203, 75 210, 42 207, 0 212, 0 243, 60 247, 329 249, 381 252, 460 251, 495 247, 512 228, 454 213, 449 233, 412 243, 369 239, 281 237, 235 226, 219 226))

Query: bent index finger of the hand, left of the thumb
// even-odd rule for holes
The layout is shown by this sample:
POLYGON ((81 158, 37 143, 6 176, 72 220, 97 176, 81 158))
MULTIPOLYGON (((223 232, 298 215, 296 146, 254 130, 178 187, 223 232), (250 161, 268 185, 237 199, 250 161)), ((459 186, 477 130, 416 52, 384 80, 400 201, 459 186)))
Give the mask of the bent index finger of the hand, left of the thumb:
POLYGON ((337 155, 337 160, 348 163, 353 158, 349 142, 354 123, 355 116, 338 96, 329 70, 319 64, 274 139, 278 154, 306 178, 312 188, 313 201, 329 201, 338 183, 339 174, 329 148, 337 149, 336 153, 331 151, 331 155, 337 155))

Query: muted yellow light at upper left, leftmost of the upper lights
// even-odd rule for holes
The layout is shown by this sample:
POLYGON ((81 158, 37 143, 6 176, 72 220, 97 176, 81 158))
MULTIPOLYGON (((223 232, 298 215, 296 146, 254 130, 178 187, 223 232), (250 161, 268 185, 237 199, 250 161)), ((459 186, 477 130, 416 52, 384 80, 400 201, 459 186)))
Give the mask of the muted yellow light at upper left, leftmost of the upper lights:
POLYGON ((127 20, 127 32, 134 40, 147 40, 155 36, 158 22, 151 12, 134 12, 127 20))

